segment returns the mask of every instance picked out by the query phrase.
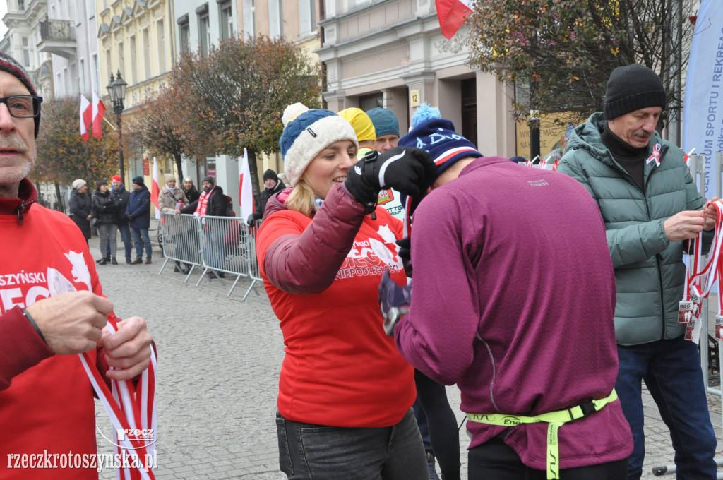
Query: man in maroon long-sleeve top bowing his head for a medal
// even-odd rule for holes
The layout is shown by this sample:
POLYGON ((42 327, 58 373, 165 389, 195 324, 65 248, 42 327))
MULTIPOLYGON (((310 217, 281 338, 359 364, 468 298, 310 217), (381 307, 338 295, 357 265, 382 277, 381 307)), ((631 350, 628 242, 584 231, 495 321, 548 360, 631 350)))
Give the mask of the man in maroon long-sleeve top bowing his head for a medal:
MULTIPOLYGON (((414 213, 398 348, 456 383, 466 413, 534 417, 607 399, 560 426, 557 465, 562 478, 624 479, 633 444, 611 395, 615 279, 599 208, 567 176, 479 158, 460 138, 432 119, 399 142, 427 150, 438 176, 414 213)), ((470 479, 544 478, 548 424, 501 423, 468 422, 470 479)))

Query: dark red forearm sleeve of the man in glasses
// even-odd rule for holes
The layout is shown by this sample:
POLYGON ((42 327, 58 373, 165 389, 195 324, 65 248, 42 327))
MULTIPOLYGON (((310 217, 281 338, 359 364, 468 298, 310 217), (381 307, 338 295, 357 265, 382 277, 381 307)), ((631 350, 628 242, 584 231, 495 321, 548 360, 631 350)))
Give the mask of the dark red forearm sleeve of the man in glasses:
POLYGON ((0 390, 9 387, 16 375, 53 355, 20 307, 0 316, 0 390))

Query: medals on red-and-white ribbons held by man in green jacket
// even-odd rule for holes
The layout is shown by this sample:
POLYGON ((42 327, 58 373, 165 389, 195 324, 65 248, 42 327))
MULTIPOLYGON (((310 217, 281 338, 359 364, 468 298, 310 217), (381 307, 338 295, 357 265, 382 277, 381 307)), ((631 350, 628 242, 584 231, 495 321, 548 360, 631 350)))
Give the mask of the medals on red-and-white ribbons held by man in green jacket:
MULTIPOLYGON (((678 307, 678 323, 686 324, 685 340, 693 340, 698 343, 701 335, 701 303, 705 299, 716 280, 723 278, 723 258, 721 250, 723 244, 723 203, 721 201, 711 202, 709 206, 714 207, 718 213, 716 218, 716 236, 713 246, 708 255, 706 265, 703 265, 703 232, 698 233, 695 241, 693 255, 688 260, 688 268, 685 275, 685 291, 683 301, 678 307)), ((723 289, 718 288, 718 314, 716 315, 716 339, 723 340, 723 289)))

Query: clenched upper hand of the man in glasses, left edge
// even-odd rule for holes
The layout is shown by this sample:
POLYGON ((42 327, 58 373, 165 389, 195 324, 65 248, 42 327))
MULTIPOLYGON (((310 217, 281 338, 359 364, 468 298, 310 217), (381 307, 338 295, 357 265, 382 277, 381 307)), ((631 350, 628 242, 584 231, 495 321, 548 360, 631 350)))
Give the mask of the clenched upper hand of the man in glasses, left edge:
POLYGON ((113 304, 93 292, 77 291, 40 300, 26 310, 43 333, 48 348, 72 355, 97 346, 113 304))

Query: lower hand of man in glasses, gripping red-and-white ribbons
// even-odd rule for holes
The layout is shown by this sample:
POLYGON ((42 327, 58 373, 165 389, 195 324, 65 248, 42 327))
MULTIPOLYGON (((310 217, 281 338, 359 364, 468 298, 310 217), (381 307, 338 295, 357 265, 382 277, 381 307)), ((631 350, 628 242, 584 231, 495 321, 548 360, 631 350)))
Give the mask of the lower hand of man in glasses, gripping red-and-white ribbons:
POLYGON ((103 332, 98 346, 105 348, 108 366, 106 373, 113 380, 131 380, 148 367, 150 362, 150 333, 141 317, 118 322, 114 334, 103 332))

